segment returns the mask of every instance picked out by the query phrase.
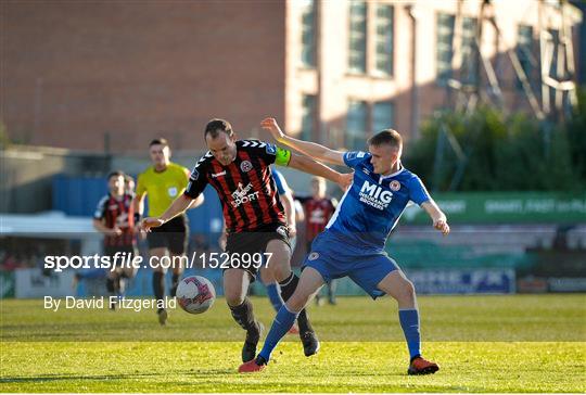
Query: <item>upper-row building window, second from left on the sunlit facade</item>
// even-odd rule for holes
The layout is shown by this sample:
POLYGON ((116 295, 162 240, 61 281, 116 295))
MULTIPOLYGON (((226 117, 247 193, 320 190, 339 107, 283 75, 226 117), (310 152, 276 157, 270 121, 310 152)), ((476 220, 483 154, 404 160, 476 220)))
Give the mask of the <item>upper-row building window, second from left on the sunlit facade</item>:
POLYGON ((351 73, 366 73, 367 4, 365 1, 349 3, 349 58, 351 73))

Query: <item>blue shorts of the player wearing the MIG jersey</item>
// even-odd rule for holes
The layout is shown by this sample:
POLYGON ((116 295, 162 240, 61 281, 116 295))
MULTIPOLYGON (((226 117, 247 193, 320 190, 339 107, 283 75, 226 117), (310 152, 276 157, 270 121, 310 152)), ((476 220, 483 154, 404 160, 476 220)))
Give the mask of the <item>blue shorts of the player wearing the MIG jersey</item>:
POLYGON ((303 267, 316 269, 326 282, 349 277, 373 300, 385 293, 377 288, 390 272, 398 266, 385 252, 362 252, 348 249, 347 244, 321 233, 311 244, 311 252, 303 267))

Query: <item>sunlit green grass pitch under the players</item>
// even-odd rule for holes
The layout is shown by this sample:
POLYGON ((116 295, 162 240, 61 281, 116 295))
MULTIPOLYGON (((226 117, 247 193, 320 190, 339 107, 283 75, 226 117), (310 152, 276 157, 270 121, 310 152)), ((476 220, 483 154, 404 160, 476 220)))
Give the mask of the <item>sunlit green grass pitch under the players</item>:
MULTIPOLYGON (((200 316, 44 310, 0 302, 1 392, 586 392, 586 296, 423 296, 433 375, 408 377, 396 305, 343 297, 309 308, 322 340, 303 356, 288 335, 260 373, 239 374, 243 331, 219 298, 200 316)), ((273 313, 254 298, 268 327, 273 313)))

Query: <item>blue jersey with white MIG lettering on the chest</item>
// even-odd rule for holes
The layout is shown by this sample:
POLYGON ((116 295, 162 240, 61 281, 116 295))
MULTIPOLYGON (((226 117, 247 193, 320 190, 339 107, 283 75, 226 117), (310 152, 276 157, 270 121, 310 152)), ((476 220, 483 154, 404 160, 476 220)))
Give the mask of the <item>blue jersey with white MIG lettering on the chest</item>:
POLYGON ((381 252, 409 202, 431 200, 425 187, 404 167, 392 175, 374 173, 367 152, 346 152, 344 163, 354 169, 354 180, 326 227, 355 252, 381 252))

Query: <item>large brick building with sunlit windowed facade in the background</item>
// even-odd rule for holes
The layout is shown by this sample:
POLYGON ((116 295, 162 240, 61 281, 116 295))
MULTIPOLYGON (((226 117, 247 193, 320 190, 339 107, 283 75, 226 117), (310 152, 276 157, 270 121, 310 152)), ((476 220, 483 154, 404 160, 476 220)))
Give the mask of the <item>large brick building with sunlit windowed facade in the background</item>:
MULTIPOLYGON (((562 13, 536 0, 492 3, 501 34, 482 24, 483 56, 507 106, 528 110, 507 51, 540 94, 538 34, 559 33, 562 13)), ((409 139, 446 105, 450 78, 486 79, 471 61, 481 4, 2 1, 0 117, 15 142, 97 152, 141 151, 161 135, 200 150, 214 116, 243 137, 263 138, 258 122, 273 115, 336 146, 359 148, 388 126, 409 139)), ((581 21, 564 10, 570 25, 581 21)))

